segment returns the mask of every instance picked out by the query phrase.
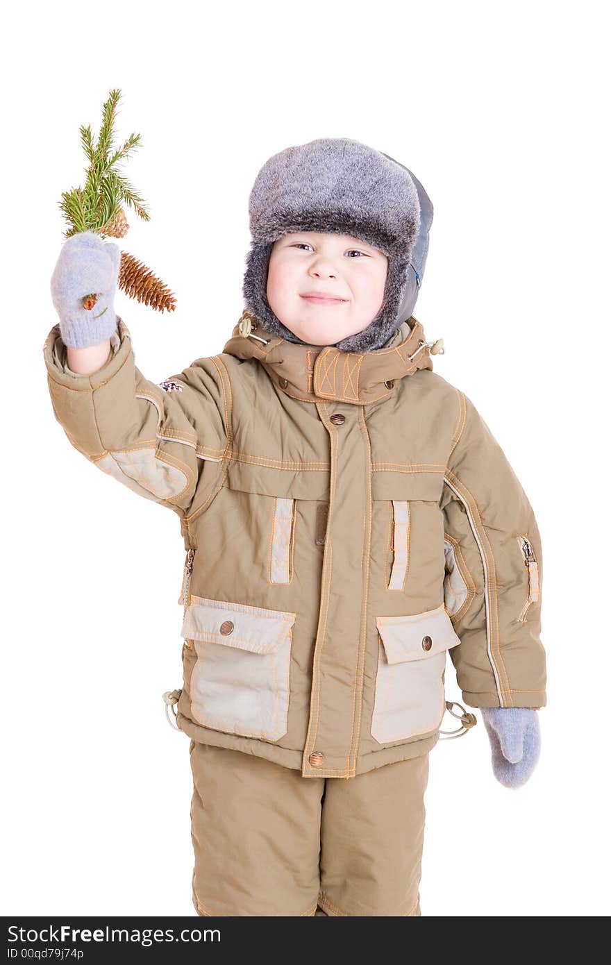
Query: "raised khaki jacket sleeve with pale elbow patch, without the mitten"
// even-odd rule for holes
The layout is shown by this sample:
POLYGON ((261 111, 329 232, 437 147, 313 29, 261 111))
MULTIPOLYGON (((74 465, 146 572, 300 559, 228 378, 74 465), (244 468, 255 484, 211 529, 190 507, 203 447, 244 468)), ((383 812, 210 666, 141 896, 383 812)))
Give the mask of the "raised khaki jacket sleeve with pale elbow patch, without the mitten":
POLYGON ((203 460, 220 463, 228 445, 222 366, 200 359, 151 382, 136 368, 120 317, 97 372, 70 371, 59 325, 49 332, 43 356, 53 412, 72 446, 139 495, 188 512, 203 460))

